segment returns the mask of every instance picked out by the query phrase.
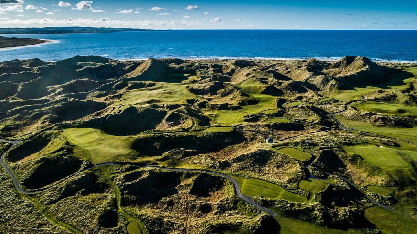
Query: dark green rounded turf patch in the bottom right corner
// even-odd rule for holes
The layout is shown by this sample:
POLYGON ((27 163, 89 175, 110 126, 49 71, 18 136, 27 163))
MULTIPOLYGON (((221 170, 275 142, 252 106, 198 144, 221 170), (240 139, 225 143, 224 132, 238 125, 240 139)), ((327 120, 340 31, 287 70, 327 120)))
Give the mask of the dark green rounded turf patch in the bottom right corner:
POLYGON ((365 217, 375 224, 382 234, 416 233, 417 231, 417 220, 381 207, 368 208, 365 210, 365 217))

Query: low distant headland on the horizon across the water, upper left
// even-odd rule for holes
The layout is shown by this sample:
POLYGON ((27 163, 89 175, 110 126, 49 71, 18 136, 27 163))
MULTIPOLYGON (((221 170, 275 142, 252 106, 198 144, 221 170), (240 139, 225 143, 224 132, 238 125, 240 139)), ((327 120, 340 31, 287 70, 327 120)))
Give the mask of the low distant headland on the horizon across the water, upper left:
POLYGON ((45 34, 45 33, 102 33, 102 32, 138 32, 169 31, 140 28, 117 27, 8 27, 0 28, 0 34, 45 34))

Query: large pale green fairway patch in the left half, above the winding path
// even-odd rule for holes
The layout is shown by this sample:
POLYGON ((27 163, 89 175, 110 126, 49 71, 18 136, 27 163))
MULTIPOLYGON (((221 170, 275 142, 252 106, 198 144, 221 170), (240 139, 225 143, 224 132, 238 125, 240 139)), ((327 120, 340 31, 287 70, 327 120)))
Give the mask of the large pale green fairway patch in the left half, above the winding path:
POLYGON ((63 135, 75 145, 75 156, 93 164, 111 162, 133 153, 129 147, 131 139, 111 136, 100 129, 69 128, 63 130, 63 135))

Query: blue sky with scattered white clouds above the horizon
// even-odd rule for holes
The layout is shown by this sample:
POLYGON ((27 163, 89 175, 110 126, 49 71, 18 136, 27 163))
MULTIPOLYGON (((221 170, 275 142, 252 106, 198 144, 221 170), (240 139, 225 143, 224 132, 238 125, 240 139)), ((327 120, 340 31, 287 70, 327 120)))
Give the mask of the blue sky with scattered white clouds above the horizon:
POLYGON ((417 29, 417 0, 0 0, 0 27, 417 29))

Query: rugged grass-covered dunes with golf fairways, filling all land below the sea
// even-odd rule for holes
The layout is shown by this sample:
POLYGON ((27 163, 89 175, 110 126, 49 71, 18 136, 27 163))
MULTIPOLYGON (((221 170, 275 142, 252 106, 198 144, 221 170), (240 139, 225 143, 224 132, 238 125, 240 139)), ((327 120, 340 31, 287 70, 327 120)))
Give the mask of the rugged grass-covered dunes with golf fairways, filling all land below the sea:
POLYGON ((416 85, 353 56, 0 62, 0 153, 37 191, 0 170, 0 230, 409 233, 416 85))

